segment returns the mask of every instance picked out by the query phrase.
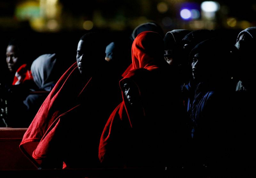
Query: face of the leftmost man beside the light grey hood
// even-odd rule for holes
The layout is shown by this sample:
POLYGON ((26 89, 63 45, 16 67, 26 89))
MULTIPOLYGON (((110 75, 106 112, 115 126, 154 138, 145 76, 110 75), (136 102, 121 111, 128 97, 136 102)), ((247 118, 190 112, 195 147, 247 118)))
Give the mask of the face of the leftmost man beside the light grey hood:
POLYGON ((9 45, 6 48, 6 63, 10 72, 16 72, 18 66, 19 57, 17 56, 16 47, 9 45))

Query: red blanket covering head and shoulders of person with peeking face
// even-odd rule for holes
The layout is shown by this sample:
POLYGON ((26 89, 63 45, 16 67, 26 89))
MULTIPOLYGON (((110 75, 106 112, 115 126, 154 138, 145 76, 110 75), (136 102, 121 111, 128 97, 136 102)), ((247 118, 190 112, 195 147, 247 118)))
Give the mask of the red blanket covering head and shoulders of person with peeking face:
MULTIPOLYGON (((149 79, 150 72, 148 72, 149 71, 146 69, 131 70, 122 80, 120 80, 119 83, 121 88, 123 88, 123 82, 125 80, 130 80, 137 86, 142 100, 142 107, 140 110, 134 110, 126 99, 124 92, 122 92, 123 101, 109 116, 100 138, 99 159, 101 162, 107 160, 108 165, 122 165, 125 164, 124 161, 128 159, 127 157, 124 158, 125 154, 123 153, 126 151, 134 153, 132 149, 129 149, 135 141, 135 139, 132 139, 132 135, 134 134, 134 130, 139 128, 140 132, 143 132, 141 125, 147 125, 143 118, 149 115, 147 109, 149 104, 146 101, 146 99, 149 98, 147 91, 149 83, 147 79, 149 79), (111 161, 111 163, 109 161, 111 161)), ((140 137, 140 134, 137 136, 140 137)))

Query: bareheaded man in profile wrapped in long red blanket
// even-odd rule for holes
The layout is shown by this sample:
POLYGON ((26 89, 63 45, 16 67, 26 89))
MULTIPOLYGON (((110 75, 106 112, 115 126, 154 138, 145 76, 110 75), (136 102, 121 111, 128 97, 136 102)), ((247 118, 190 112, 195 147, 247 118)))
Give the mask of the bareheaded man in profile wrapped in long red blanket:
POLYGON ((105 94, 111 87, 105 87, 108 62, 103 39, 97 32, 79 39, 76 62, 53 87, 24 134, 20 149, 36 167, 100 166, 100 130, 113 109, 111 103, 115 104, 109 103, 111 96, 105 94))

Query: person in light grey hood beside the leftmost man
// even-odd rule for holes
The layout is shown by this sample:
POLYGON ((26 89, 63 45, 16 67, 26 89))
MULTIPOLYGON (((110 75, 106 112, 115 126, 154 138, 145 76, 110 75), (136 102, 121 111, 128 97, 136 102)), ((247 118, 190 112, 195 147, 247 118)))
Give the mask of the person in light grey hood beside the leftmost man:
POLYGON ((28 128, 45 98, 62 75, 56 64, 56 54, 44 54, 33 61, 31 75, 37 87, 30 88, 26 92, 28 96, 23 100, 15 97, 9 100, 8 124, 10 127, 28 128))

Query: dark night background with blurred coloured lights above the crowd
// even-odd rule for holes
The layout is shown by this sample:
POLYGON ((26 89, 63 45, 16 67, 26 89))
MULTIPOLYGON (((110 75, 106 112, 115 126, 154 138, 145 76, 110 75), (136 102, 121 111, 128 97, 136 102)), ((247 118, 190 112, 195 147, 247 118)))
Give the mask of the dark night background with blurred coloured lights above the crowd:
MULTIPOLYGON (((154 21, 164 30, 221 29, 236 41, 256 26, 256 2, 200 0, 1 0, 1 58, 8 41, 22 36, 31 60, 63 51, 75 62, 79 38, 90 30, 115 39, 129 36, 141 23, 154 21)), ((2 60, 1 60, 2 61, 2 60)))

